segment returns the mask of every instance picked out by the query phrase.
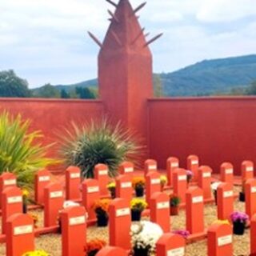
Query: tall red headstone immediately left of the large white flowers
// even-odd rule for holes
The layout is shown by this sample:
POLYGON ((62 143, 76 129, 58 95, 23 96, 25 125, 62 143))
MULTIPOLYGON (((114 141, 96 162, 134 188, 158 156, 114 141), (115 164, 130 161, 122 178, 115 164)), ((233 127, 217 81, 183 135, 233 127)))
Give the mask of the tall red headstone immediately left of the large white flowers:
POLYGON ((126 199, 116 198, 109 208, 110 246, 130 250, 130 203, 126 199))

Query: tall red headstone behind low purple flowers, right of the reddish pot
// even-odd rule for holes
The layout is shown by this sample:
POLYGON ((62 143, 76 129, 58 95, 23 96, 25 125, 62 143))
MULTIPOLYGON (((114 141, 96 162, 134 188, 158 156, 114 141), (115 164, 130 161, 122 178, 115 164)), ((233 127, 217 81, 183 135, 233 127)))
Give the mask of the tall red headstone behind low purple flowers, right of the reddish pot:
POLYGON ((186 230, 190 234, 203 233, 204 211, 203 194, 200 188, 190 188, 186 191, 186 230))

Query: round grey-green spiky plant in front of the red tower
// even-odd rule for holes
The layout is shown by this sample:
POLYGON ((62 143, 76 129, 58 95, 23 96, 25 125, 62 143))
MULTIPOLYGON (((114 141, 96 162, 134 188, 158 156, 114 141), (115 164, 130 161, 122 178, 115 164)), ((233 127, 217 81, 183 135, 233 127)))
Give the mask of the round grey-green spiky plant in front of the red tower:
POLYGON ((106 164, 109 176, 115 177, 123 161, 132 161, 136 166, 142 152, 143 146, 134 133, 120 122, 112 126, 107 119, 92 120, 81 127, 72 123, 62 136, 62 158, 67 166, 80 167, 84 178, 94 178, 94 166, 98 163, 106 164))

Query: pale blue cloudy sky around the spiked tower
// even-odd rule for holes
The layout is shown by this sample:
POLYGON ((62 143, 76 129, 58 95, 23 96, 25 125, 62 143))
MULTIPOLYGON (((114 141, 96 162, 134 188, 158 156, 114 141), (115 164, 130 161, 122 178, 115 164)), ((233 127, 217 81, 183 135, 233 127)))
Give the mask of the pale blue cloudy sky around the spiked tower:
MULTIPOLYGON (((0 70, 30 88, 96 78, 99 48, 86 31, 103 41, 107 9, 105 0, 0 0, 0 70)), ((154 72, 256 54, 256 0, 148 0, 139 15, 151 37, 164 33, 150 45, 154 72)))

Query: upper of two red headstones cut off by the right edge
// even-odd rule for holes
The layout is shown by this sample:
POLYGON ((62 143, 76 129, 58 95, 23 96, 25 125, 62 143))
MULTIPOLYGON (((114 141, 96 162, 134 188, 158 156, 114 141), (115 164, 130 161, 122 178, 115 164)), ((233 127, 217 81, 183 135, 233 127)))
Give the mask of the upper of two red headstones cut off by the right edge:
POLYGON ((250 178, 246 181, 245 185, 246 193, 246 214, 250 218, 256 214, 256 179, 250 178))

